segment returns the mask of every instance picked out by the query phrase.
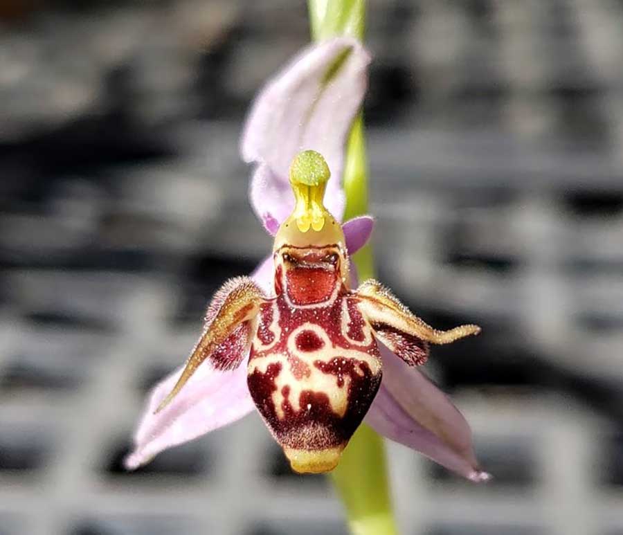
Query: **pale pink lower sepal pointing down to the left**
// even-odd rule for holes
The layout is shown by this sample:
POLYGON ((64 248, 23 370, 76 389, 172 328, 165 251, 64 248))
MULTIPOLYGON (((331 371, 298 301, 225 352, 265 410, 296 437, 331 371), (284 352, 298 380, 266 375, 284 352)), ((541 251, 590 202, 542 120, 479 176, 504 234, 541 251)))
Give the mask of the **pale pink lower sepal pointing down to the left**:
POLYGON ((217 372, 204 363, 170 405, 154 414, 181 371, 179 368, 152 390, 134 435, 134 451, 124 460, 127 469, 134 470, 150 462, 154 455, 166 448, 231 424, 255 408, 246 386, 244 361, 231 372, 217 372))

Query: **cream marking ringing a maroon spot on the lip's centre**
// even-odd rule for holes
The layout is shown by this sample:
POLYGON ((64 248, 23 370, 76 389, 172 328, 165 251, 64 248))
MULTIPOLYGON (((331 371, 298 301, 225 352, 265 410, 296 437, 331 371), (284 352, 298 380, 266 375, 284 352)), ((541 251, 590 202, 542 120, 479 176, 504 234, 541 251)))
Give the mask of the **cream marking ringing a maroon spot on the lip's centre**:
MULTIPOLYGON (((253 374, 255 370, 265 374, 271 364, 281 364, 281 370, 275 378, 275 390, 272 394, 273 404, 275 411, 279 419, 285 417, 282 404, 285 401, 285 396, 282 393, 284 386, 289 387, 288 401, 293 410, 300 411, 300 394, 304 390, 311 390, 312 392, 323 392, 329 398, 329 405, 332 411, 339 417, 343 417, 348 406, 348 390, 350 387, 350 376, 344 374, 342 376, 343 385, 338 386, 339 378, 335 374, 328 374, 319 370, 314 365, 315 361, 323 363, 329 363, 333 359, 343 359, 344 363, 347 360, 354 359, 359 362, 358 366, 355 366, 354 370, 357 374, 363 376, 364 372, 361 369, 361 363, 366 363, 370 368, 370 372, 373 375, 377 375, 381 371, 381 361, 379 358, 372 356, 366 352, 359 350, 345 350, 342 347, 336 347, 329 339, 325 329, 314 323, 304 323, 297 327, 288 335, 287 342, 288 352, 291 356, 296 356, 298 359, 309 365, 311 373, 309 376, 305 376, 302 379, 296 379, 291 370, 291 365, 288 362, 287 354, 282 353, 269 353, 253 359, 249 362, 248 372, 253 374), (296 347, 296 336, 303 331, 314 332, 324 343, 323 347, 315 351, 300 351, 296 347)), ((307 410, 311 407, 307 406, 307 410)))

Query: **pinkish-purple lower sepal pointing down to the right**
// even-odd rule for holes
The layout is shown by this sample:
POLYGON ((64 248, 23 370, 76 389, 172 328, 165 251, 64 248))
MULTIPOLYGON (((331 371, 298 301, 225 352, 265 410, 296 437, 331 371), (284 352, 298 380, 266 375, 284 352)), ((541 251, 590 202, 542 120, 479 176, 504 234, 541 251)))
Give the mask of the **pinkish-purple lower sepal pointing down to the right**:
POLYGON ((386 347, 379 348, 383 379, 365 421, 471 481, 488 480, 473 453, 469 425, 448 397, 386 347))

